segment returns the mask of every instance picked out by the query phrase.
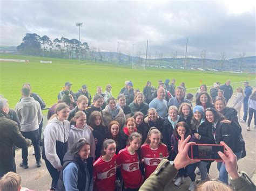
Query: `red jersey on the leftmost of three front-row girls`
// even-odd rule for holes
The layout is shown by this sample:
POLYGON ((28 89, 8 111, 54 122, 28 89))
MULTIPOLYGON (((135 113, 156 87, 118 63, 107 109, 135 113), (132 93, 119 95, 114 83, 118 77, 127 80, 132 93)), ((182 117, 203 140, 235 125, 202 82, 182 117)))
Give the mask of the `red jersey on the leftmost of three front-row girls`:
POLYGON ((116 189, 116 164, 116 154, 114 154, 113 158, 109 161, 104 160, 102 156, 100 156, 93 163, 93 179, 95 181, 94 190, 113 191, 116 189))

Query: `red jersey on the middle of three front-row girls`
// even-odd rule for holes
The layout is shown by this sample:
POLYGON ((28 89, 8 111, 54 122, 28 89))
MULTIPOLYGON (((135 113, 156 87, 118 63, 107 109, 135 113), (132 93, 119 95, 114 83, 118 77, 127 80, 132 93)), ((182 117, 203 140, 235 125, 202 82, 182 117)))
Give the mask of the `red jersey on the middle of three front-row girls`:
POLYGON ((142 184, 142 172, 139 169, 139 155, 137 152, 131 154, 128 146, 120 150, 117 155, 117 165, 122 165, 121 175, 126 187, 140 187, 142 184))

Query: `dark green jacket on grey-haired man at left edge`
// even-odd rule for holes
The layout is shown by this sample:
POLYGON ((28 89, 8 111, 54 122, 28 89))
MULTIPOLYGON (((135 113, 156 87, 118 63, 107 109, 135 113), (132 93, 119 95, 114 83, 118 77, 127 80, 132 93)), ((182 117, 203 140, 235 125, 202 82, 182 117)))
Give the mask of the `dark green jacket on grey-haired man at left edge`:
POLYGON ((0 112, 0 177, 13 169, 13 145, 25 148, 31 144, 29 139, 22 136, 15 121, 0 112))

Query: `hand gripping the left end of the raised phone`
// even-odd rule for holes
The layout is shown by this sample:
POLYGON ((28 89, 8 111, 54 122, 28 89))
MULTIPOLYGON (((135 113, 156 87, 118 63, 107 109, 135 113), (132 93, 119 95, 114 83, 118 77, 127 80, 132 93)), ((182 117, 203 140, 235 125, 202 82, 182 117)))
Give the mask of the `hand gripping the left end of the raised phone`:
POLYGON ((193 164, 196 162, 199 162, 200 160, 197 159, 191 159, 188 157, 187 152, 190 149, 191 145, 194 145, 196 143, 190 142, 187 143, 188 140, 190 140, 191 136, 189 135, 185 140, 184 140, 184 135, 181 135, 181 139, 179 140, 179 145, 178 145, 178 154, 176 158, 173 161, 174 167, 176 169, 184 168, 185 166, 189 164, 193 164))

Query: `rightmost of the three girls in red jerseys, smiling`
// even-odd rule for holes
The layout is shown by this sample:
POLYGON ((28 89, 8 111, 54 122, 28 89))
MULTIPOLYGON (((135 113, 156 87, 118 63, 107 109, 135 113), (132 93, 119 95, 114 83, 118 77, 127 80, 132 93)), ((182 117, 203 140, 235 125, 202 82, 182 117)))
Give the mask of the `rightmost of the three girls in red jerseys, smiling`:
POLYGON ((161 132, 157 128, 150 128, 145 144, 140 148, 144 159, 145 179, 149 178, 161 160, 168 158, 167 146, 161 143, 161 132))

